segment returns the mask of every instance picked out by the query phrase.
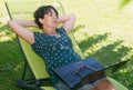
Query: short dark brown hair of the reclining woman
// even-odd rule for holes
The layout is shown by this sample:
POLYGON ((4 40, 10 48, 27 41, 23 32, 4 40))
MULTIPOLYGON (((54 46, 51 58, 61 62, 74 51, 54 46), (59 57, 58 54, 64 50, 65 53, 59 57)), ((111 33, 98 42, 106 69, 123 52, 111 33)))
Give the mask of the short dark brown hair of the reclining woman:
POLYGON ((57 17, 58 17, 58 11, 52 6, 41 6, 33 13, 34 22, 39 26, 40 29, 42 29, 42 23, 40 23, 39 18, 43 19, 44 14, 51 12, 51 9, 53 9, 55 11, 57 17))

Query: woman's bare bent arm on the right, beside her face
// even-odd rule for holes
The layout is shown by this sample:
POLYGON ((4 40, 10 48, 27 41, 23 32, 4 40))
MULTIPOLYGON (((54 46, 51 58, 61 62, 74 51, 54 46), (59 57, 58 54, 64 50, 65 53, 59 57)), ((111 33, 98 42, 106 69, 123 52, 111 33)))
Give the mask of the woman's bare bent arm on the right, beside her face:
POLYGON ((71 31, 75 22, 74 14, 62 16, 58 20, 59 23, 63 23, 63 28, 66 30, 66 33, 71 31))

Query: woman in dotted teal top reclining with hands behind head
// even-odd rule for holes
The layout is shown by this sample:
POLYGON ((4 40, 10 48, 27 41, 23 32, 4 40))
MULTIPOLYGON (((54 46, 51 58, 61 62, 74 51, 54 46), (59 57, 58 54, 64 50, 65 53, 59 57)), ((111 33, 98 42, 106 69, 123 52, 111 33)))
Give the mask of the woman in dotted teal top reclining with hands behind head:
MULTIPOLYGON (((81 60, 79 54, 74 52, 71 39, 68 37, 74 26, 75 16, 59 17, 58 11, 52 6, 38 8, 33 16, 34 20, 10 20, 8 24, 19 37, 30 43, 34 52, 45 61, 53 87, 58 90, 71 90, 52 70, 81 60), (58 23, 62 23, 62 26, 57 28, 58 23), (28 27, 40 28, 43 33, 30 31, 27 29, 28 27)), ((78 90, 115 90, 106 78, 102 78, 93 84, 88 83, 78 90)))

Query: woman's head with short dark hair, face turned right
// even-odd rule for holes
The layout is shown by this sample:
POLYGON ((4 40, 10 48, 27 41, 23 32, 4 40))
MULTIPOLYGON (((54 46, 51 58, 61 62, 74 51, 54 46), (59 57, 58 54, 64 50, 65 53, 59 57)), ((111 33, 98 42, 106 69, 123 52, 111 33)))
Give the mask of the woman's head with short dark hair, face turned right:
POLYGON ((55 16, 58 18, 58 11, 52 6, 41 6, 33 13, 34 22, 39 26, 40 29, 44 29, 50 26, 54 27, 55 24, 52 26, 49 21, 54 21, 53 17, 55 18, 55 16))

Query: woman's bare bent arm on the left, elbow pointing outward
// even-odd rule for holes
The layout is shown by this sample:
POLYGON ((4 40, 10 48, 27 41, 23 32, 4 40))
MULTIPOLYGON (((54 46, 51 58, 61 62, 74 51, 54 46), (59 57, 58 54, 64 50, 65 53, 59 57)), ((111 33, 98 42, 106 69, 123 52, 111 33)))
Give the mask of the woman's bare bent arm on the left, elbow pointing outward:
POLYGON ((34 21, 10 20, 8 21, 8 26, 27 42, 34 42, 33 32, 27 29, 28 27, 38 27, 34 21))

